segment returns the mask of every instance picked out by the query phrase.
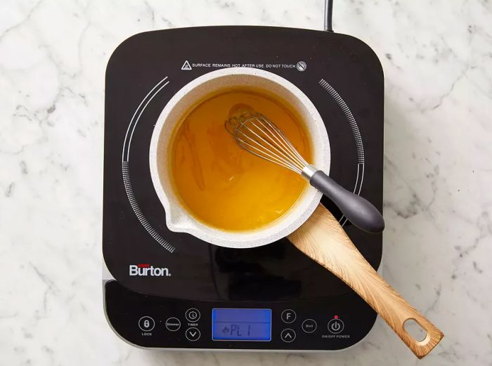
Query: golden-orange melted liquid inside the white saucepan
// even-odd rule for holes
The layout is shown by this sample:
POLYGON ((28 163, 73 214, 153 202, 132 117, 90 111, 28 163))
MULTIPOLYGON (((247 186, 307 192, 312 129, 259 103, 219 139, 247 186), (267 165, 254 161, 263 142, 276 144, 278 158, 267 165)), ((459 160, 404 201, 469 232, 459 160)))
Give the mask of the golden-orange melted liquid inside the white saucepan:
POLYGON ((311 159, 302 123, 287 106, 262 93, 231 90, 191 110, 171 145, 174 189, 190 214, 223 230, 252 230, 273 223, 306 188, 301 176, 242 150, 227 133, 224 122, 243 107, 266 115, 306 160, 311 159))

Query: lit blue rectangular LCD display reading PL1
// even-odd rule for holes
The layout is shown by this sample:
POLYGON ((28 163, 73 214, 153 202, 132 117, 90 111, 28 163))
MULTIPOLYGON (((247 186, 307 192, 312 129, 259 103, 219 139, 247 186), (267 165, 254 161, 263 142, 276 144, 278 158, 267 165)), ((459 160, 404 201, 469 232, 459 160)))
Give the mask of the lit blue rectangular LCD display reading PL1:
POLYGON ((271 341, 271 309, 212 309, 214 341, 271 341))

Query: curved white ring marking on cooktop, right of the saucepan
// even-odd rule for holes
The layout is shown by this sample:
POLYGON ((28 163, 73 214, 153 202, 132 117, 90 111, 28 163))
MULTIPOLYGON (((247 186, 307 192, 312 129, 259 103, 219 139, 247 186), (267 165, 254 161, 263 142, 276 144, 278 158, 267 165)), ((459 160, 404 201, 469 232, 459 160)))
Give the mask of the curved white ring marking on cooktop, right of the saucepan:
MULTIPOLYGON (((347 103, 345 103, 345 100, 343 100, 339 93, 337 93, 335 88, 328 84, 325 79, 320 79, 320 81, 318 81, 318 84, 320 84, 321 87, 325 89, 328 94, 330 94, 335 102, 337 102, 337 105, 339 105, 339 107, 342 109, 345 118, 347 118, 347 121, 349 122, 352 133, 354 133, 357 151, 357 178, 356 185, 354 187, 354 193, 356 195, 361 195, 362 182, 364 181, 364 145, 362 143, 361 131, 359 131, 358 129, 356 119, 354 118, 354 115, 352 115, 349 106, 347 105, 347 103)), ((342 218, 340 218, 338 222, 342 223, 342 226, 344 226, 345 223, 347 223, 347 218, 345 216, 342 216, 342 218)))

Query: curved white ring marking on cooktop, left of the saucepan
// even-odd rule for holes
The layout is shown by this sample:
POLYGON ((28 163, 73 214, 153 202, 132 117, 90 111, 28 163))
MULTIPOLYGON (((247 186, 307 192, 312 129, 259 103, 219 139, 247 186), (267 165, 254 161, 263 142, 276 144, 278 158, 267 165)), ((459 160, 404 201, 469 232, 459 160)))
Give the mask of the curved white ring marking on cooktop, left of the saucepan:
POLYGON ((161 246, 164 247, 164 249, 167 249, 172 253, 176 250, 176 248, 173 247, 171 244, 169 244, 169 242, 165 240, 164 237, 162 237, 162 235, 157 233, 157 230, 155 230, 155 228, 153 228, 153 226, 150 225, 147 218, 145 218, 145 216, 143 215, 140 206, 138 206, 138 203, 136 202, 135 199, 134 190, 131 187, 130 172, 129 172, 131 138, 133 138, 134 136, 136 124, 138 124, 138 120, 140 119, 141 115, 143 114, 143 111, 150 103, 150 101, 153 100, 153 98, 157 95, 157 93, 159 93, 167 84, 169 84, 169 80, 167 80, 167 77, 164 77, 164 79, 162 79, 157 84, 155 84, 153 89, 150 89, 150 91, 147 93, 145 98, 143 98, 141 103, 136 108, 134 115, 131 117, 130 124, 128 126, 127 133, 124 136, 124 142, 123 142, 122 175, 123 175, 124 190, 127 192, 127 197, 131 204, 131 208, 134 210, 134 213, 138 218, 138 221, 140 221, 142 226, 145 228, 145 230, 147 230, 150 236, 154 238, 155 241, 161 244, 161 246))

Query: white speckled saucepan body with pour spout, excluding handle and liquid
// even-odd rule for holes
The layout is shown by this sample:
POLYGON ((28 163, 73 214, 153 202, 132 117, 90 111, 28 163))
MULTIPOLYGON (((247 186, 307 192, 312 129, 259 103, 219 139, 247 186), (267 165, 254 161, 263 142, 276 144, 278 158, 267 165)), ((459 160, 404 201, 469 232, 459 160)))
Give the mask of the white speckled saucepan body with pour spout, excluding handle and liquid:
POLYGON ((155 124, 150 143, 150 174, 166 211, 169 230, 189 233, 221 247, 259 247, 286 237, 311 216, 322 196, 318 190, 309 187, 287 214, 269 226, 247 232, 227 232, 206 226, 181 205, 171 186, 170 171, 166 164, 162 164, 169 159, 171 133, 182 121, 183 115, 204 98, 222 90, 244 86, 273 93, 291 105, 305 123, 313 150, 313 164, 327 174, 330 171, 330 143, 323 120, 311 100, 290 81, 264 70, 231 67, 209 72, 186 84, 169 100, 155 124))

